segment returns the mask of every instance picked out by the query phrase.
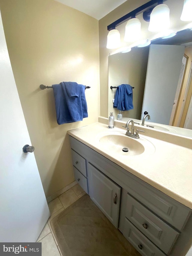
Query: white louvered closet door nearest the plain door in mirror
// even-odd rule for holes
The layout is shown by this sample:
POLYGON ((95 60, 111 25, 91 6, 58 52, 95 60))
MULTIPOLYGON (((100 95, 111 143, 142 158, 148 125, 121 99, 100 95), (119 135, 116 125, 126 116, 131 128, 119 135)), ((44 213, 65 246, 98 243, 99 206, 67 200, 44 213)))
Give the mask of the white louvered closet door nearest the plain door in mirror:
POLYGON ((182 81, 183 81, 186 62, 187 62, 187 58, 185 56, 183 56, 181 71, 180 71, 180 74, 179 74, 179 81, 178 81, 178 85, 177 85, 177 90, 176 90, 176 95, 175 95, 175 99, 174 99, 174 103, 173 103, 173 109, 172 109, 172 112, 171 112, 169 125, 173 124, 173 118, 175 116, 177 102, 178 102, 178 99, 179 99, 179 93, 180 93, 181 86, 182 86, 182 81))

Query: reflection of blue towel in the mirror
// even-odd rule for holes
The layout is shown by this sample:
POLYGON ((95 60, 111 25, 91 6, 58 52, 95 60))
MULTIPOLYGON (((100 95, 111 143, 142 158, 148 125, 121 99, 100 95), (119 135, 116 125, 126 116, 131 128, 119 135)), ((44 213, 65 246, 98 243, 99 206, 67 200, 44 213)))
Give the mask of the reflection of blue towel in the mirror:
POLYGON ((117 87, 113 107, 119 110, 133 109, 133 88, 129 84, 121 84, 117 87))

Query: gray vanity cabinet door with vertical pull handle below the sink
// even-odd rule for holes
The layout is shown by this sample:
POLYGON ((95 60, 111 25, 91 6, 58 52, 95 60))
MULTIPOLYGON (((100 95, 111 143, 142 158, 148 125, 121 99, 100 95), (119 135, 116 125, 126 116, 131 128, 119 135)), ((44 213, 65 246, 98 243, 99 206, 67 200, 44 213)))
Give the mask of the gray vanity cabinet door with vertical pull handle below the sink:
POLYGON ((88 187, 91 200, 118 228, 121 187, 88 163, 88 187))

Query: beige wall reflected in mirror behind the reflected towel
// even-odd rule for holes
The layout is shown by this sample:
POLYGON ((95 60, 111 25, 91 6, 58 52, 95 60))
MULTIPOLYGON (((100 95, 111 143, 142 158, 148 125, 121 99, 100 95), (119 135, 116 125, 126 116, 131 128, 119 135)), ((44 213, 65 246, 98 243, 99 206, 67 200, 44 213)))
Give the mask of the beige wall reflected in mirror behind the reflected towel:
MULTIPOLYGON (((135 47, 131 52, 117 53, 108 57, 109 85, 119 86, 125 83, 134 87, 134 109, 123 112, 123 117, 141 119, 148 57, 149 47, 135 47)), ((119 113, 117 108, 113 108, 113 99, 115 98, 116 89, 110 89, 110 86, 108 88, 108 112, 113 112, 116 118, 119 113)))

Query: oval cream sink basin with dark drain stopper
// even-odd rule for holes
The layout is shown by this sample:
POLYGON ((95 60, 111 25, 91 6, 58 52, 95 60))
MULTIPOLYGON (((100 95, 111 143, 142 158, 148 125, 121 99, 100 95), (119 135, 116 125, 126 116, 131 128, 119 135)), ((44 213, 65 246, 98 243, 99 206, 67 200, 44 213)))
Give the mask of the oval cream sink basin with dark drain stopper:
POLYGON ((146 152, 155 152, 155 147, 148 140, 140 137, 134 139, 128 137, 123 132, 113 132, 112 134, 105 134, 99 138, 99 144, 105 148, 105 151, 115 153, 118 155, 133 156, 140 155, 146 152), (128 152, 124 152, 123 148, 128 148, 128 152))

